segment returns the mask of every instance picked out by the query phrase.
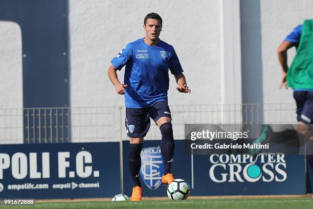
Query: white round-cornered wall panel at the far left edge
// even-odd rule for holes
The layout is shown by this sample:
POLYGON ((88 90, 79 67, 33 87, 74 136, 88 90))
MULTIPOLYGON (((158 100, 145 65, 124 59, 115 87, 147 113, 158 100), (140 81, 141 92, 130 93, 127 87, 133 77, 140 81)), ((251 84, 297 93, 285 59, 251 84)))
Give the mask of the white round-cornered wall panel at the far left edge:
POLYGON ((0 144, 23 143, 21 43, 19 25, 0 21, 0 144))

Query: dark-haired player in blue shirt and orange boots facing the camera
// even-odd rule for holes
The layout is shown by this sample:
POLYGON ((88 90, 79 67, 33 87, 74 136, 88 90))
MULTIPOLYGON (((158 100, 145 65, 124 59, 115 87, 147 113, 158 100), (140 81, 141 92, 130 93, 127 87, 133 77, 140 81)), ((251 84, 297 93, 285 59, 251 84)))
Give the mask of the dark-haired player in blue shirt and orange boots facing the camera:
POLYGON ((161 153, 164 172, 162 183, 169 184, 174 180, 171 173, 173 162, 174 138, 171 124, 171 111, 167 103, 169 75, 175 76, 179 92, 190 93, 183 69, 174 48, 162 41, 162 18, 156 13, 149 13, 144 18, 144 38, 127 44, 111 60, 107 74, 118 94, 125 94, 125 126, 130 139, 128 162, 133 180, 132 201, 142 197, 139 172, 141 168, 140 153, 143 139, 150 128, 150 117, 159 126, 161 153), (125 66, 124 83, 117 76, 117 70, 125 66))

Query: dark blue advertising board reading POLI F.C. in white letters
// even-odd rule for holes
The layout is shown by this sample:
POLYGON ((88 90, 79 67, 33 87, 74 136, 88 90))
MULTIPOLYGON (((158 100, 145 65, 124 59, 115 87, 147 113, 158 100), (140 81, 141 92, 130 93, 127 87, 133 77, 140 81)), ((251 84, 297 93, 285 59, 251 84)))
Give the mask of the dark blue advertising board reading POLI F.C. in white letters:
POLYGON ((119 142, 0 145, 0 197, 88 198, 119 194, 119 142))

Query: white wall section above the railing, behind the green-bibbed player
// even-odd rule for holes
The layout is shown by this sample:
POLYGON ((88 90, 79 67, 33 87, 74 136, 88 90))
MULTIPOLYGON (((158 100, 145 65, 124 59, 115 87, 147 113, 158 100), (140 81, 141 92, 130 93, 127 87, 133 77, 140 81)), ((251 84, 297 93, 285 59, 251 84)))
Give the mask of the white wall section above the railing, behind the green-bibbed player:
MULTIPOLYGON (((284 38, 304 19, 313 18, 313 1, 262 0, 261 37, 263 61, 263 102, 294 102, 293 91, 279 90, 282 69, 277 58, 277 48, 284 38)), ((296 49, 288 51, 290 64, 296 49)))

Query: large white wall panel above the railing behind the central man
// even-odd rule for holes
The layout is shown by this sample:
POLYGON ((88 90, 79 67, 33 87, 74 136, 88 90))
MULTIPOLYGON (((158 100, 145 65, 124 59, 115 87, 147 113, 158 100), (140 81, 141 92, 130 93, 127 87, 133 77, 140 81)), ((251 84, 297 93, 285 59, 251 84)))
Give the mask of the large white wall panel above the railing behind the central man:
MULTIPOLYGON (((171 105, 221 103, 219 1, 70 0, 71 106, 124 106, 107 77, 111 58, 144 37, 143 19, 163 19, 160 38, 174 46, 190 95, 178 93, 171 75, 171 105)), ((123 80, 123 70, 118 74, 123 80)))

